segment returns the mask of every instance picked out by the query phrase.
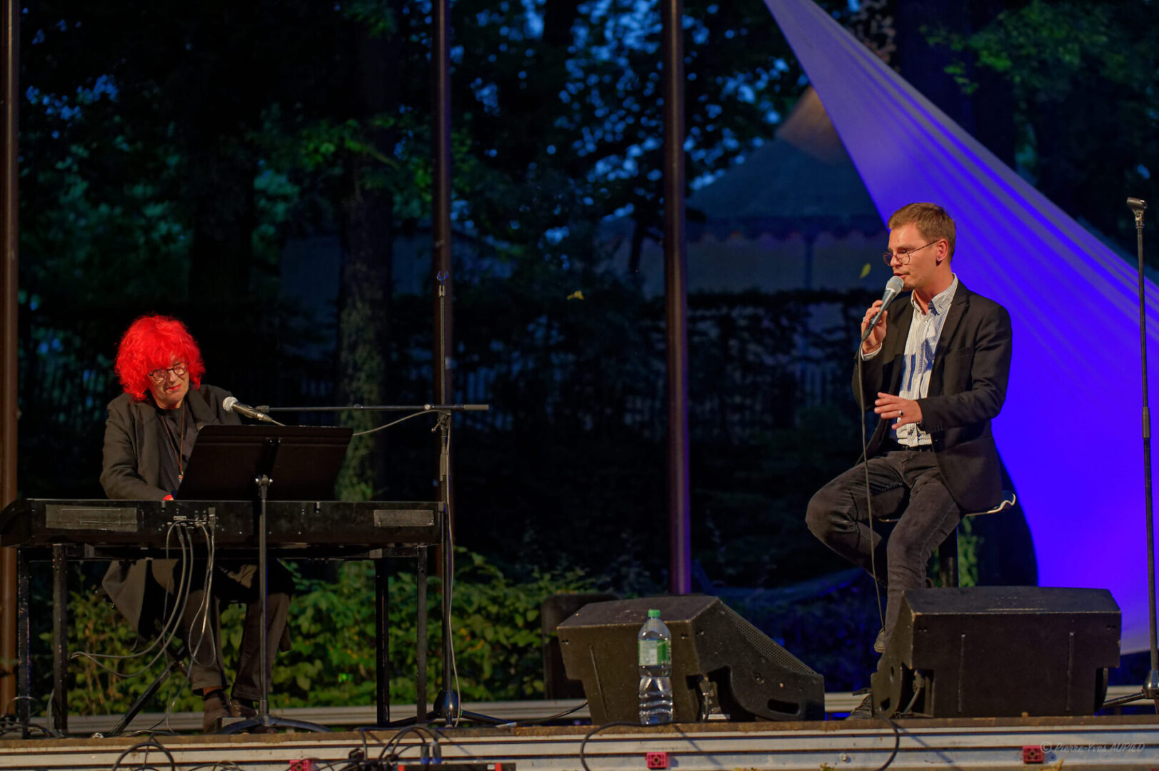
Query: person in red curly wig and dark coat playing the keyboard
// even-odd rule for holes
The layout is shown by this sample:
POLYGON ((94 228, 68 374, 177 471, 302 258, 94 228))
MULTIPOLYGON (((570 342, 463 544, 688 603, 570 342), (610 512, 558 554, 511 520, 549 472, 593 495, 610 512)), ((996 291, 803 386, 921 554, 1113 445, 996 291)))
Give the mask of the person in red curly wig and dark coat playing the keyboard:
MULTIPOLYGON (((101 485, 115 500, 160 501, 180 496, 181 480, 197 432, 204 425, 238 424, 223 408, 229 395, 203 385, 205 364, 185 326, 173 318, 146 315, 130 325, 117 349, 116 372, 124 393, 109 402, 104 424, 104 464, 101 485)), ((213 566, 212 596, 205 596, 206 566, 191 568, 192 589, 184 603, 180 630, 190 654, 189 681, 204 699, 203 729, 216 732, 227 717, 252 718, 261 698, 261 603, 256 566, 218 562, 213 566), (226 696, 221 668, 219 603, 248 603, 232 700, 226 696), (206 619, 206 611, 209 618, 206 619)), ((181 585, 177 560, 114 562, 103 585, 114 604, 141 637, 163 626, 159 611, 167 606, 161 591, 181 585)), ((277 562, 269 569, 268 661, 274 662, 289 638, 286 614, 293 580, 277 562)))

